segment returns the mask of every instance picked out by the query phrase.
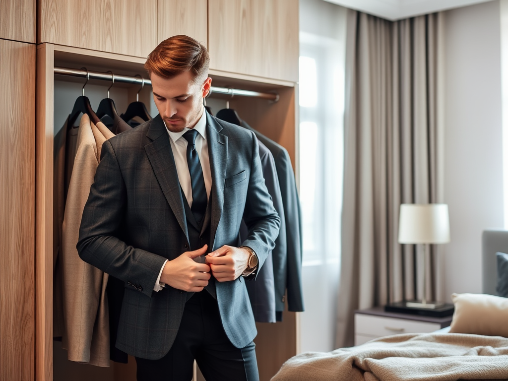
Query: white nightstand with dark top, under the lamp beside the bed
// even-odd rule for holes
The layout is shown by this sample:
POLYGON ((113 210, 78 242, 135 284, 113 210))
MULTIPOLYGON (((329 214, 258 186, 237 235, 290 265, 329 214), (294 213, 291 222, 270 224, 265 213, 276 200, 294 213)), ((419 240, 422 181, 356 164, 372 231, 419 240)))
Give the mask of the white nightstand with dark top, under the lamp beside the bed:
POLYGON ((428 333, 448 327, 452 315, 431 317, 406 313, 386 312, 383 307, 355 311, 355 345, 376 337, 399 333, 428 333))

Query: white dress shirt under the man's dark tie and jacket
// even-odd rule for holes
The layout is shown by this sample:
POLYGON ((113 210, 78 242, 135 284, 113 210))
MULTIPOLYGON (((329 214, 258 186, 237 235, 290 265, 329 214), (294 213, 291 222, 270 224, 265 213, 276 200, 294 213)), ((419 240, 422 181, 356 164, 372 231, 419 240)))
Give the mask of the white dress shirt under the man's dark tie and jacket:
MULTIPOLYGON (((210 198, 210 190, 212 188, 212 174, 210 170, 210 158, 208 156, 208 143, 206 139, 206 112, 205 108, 202 108, 201 117, 194 126, 194 130, 198 132, 196 137, 195 145, 196 151, 198 152, 199 161, 201 162, 201 168, 203 170, 203 177, 205 180, 206 197, 210 198)), ((173 151, 173 157, 175 158, 176 173, 178 174, 178 181, 182 187, 183 194, 189 206, 192 206, 192 184, 190 183, 190 173, 187 166, 187 141, 183 137, 189 129, 185 128, 182 132, 171 132, 166 128, 169 135, 169 142, 171 144, 171 150, 173 151)), ((161 283, 161 275, 164 266, 166 266, 166 260, 162 265, 159 276, 155 281, 153 291, 161 291, 166 283, 161 283)))

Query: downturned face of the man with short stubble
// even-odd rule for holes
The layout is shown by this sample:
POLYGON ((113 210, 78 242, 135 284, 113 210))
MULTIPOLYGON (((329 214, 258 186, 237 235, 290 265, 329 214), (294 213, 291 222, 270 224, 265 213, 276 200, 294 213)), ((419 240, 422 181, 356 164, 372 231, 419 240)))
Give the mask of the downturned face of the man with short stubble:
POLYGON ((181 132, 184 128, 194 128, 201 116, 203 97, 210 91, 212 79, 194 83, 190 72, 171 79, 151 73, 150 79, 155 106, 168 130, 181 132))

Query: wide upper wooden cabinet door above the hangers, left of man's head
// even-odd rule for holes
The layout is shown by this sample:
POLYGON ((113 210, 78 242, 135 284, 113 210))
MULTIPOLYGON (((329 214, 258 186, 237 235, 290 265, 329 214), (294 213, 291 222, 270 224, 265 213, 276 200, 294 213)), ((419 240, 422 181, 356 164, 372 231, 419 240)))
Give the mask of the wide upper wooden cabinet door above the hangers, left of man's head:
POLYGON ((157 0, 40 0, 39 42, 146 57, 157 44, 157 0))

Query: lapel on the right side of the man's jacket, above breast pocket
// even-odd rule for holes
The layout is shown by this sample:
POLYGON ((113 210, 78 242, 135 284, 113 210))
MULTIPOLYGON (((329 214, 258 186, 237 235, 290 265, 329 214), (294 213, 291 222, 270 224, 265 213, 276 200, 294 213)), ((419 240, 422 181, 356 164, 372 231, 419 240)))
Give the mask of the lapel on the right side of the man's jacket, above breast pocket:
POLYGON ((210 244, 211 251, 213 251, 216 249, 215 234, 224 205, 224 181, 226 180, 228 161, 228 137, 220 134, 223 128, 208 113, 206 118, 208 153, 210 157, 210 171, 212 174, 210 244))

